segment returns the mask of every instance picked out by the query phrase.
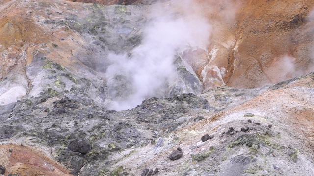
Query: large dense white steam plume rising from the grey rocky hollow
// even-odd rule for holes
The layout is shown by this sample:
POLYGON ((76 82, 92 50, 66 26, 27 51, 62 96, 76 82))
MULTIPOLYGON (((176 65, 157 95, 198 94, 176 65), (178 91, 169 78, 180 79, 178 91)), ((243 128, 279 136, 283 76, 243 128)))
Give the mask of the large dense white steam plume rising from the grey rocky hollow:
POLYGON ((177 3, 180 12, 176 13, 172 4, 154 6, 155 18, 144 28, 141 45, 131 53, 109 54, 111 65, 106 70, 112 97, 109 109, 131 109, 149 97, 162 96, 176 79, 174 59, 178 51, 209 44, 211 25, 201 13, 194 13, 199 8, 197 4, 193 0, 177 3))

